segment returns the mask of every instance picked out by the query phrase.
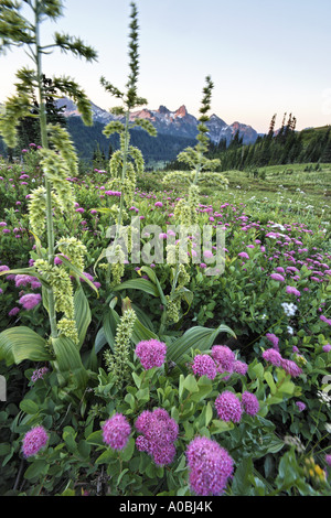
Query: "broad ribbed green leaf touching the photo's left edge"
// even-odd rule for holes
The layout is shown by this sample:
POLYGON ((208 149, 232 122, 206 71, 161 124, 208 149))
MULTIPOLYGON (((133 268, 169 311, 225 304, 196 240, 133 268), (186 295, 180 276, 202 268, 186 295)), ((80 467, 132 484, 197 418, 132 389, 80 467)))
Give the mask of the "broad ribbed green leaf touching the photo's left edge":
POLYGON ((0 360, 7 365, 20 364, 24 359, 46 361, 52 356, 45 349, 45 341, 25 326, 11 327, 0 333, 0 360))

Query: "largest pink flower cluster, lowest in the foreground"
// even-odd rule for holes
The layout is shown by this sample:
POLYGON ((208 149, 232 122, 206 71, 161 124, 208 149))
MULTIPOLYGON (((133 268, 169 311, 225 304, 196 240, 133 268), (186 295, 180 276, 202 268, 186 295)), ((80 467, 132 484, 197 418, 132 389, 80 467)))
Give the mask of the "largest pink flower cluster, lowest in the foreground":
POLYGON ((193 439, 186 449, 191 489, 199 496, 220 496, 233 476, 234 461, 216 441, 193 439))

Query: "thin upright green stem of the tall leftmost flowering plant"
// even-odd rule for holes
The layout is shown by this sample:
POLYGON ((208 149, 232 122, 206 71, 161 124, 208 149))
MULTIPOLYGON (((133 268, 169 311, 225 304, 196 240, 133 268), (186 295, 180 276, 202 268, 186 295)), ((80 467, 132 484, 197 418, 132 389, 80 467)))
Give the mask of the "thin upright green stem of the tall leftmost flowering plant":
MULTIPOLYGON (((40 44, 40 2, 35 0, 34 3, 34 20, 35 20, 35 64, 36 64, 36 80, 38 80, 38 93, 39 93, 39 106, 40 106, 40 130, 41 130, 41 143, 44 149, 49 149, 47 139, 47 120, 46 109, 44 102, 44 88, 43 88, 43 75, 42 75, 42 63, 41 63, 41 44, 40 44)), ((46 188, 46 226, 47 226, 47 247, 49 247, 49 263, 54 263, 54 226, 53 226, 53 213, 52 213, 52 185, 51 182, 45 177, 46 188)), ((47 289, 47 303, 49 303, 49 317, 51 324, 51 336, 57 337, 57 325, 56 325, 56 313, 55 313, 55 300, 52 288, 47 289)))

